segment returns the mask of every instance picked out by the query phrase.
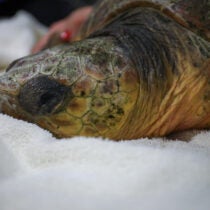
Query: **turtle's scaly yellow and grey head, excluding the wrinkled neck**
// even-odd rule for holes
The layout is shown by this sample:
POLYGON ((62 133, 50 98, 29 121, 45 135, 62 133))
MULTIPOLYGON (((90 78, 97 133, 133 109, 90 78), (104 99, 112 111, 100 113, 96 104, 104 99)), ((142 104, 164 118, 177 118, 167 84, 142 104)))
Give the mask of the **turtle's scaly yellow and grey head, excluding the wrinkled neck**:
POLYGON ((137 92, 136 75, 112 45, 86 40, 14 61, 0 76, 1 111, 58 137, 107 136, 137 92))

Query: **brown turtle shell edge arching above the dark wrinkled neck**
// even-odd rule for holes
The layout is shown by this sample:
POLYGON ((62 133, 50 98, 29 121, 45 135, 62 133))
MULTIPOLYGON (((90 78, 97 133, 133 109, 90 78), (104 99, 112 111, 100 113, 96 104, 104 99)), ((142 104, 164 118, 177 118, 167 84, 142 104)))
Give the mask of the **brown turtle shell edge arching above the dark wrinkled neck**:
POLYGON ((135 7, 150 7, 206 40, 210 40, 210 0, 103 0, 99 1, 84 24, 78 39, 100 30, 119 14, 135 7))

